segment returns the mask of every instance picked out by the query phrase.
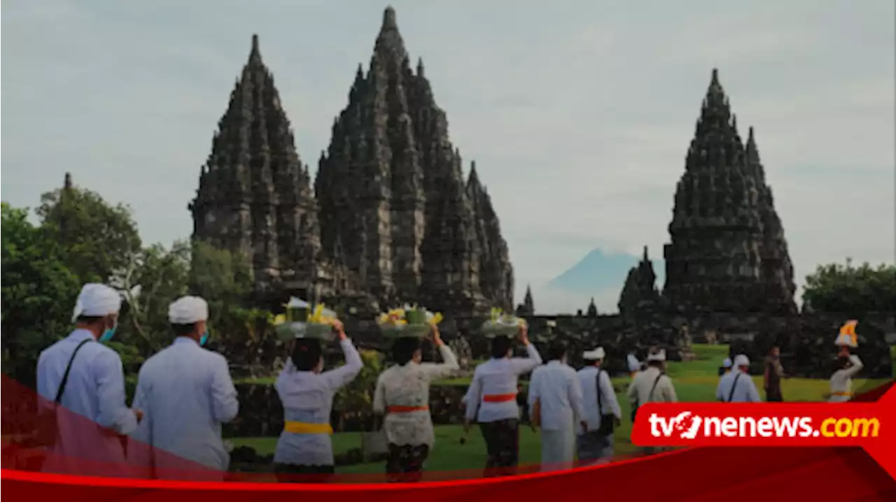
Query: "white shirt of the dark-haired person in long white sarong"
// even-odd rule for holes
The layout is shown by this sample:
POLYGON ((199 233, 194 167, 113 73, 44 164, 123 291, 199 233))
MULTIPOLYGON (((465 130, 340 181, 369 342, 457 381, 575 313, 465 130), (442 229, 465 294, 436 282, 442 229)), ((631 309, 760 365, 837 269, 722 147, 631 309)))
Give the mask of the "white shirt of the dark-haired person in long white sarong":
POLYGON ((536 401, 540 406, 542 430, 570 430, 585 420, 579 378, 563 362, 551 361, 532 371, 530 409, 536 401))

